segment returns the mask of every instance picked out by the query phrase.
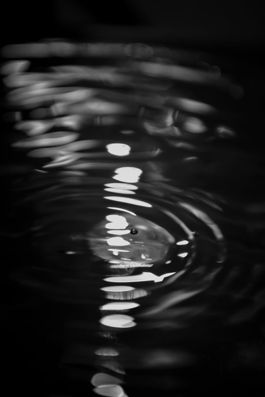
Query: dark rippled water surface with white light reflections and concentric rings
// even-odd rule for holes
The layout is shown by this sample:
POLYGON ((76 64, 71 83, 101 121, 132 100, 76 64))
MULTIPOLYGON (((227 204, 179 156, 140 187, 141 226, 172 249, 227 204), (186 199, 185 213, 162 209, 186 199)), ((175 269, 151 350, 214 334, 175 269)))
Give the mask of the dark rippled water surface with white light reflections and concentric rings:
POLYGON ((250 69, 145 45, 2 52, 10 391, 264 396, 250 69))

